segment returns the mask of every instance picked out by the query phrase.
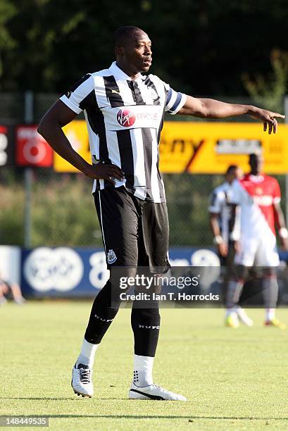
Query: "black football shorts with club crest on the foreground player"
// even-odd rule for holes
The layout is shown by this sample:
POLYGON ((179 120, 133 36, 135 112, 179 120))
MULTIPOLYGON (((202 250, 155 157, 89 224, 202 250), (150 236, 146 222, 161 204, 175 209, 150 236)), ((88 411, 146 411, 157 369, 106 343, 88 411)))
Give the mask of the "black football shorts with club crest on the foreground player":
POLYGON ((152 273, 165 273, 170 268, 165 203, 142 201, 125 187, 98 190, 94 201, 108 269, 146 267, 152 273))

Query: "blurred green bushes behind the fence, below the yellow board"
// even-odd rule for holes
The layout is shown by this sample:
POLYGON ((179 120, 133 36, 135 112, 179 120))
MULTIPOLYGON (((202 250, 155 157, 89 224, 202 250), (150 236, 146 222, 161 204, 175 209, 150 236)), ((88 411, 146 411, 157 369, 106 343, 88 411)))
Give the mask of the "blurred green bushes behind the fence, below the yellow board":
MULTIPOLYGON (((208 196, 223 175, 165 174, 171 246, 211 246, 208 196)), ((277 177, 284 190, 284 176, 277 177)), ((83 175, 39 171, 32 182, 32 247, 103 246, 101 228, 91 193, 92 182, 83 175)), ((0 185, 0 244, 23 246, 25 189, 17 175, 0 185)), ((285 196, 282 196, 285 208, 285 196)))

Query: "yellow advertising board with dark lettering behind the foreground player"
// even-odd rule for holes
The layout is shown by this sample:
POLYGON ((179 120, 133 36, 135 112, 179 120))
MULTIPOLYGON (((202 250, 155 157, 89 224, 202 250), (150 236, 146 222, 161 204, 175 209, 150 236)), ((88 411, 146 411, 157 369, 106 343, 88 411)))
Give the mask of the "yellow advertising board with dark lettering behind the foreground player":
MULTIPOLYGON (((63 128, 73 148, 89 163, 89 140, 84 120, 63 128)), ((160 170, 163 173, 224 173, 228 165, 249 170, 247 154, 263 151, 265 173, 288 173, 288 125, 279 125, 277 135, 263 132, 261 123, 165 122, 161 134, 160 170)), ((58 156, 57 172, 77 172, 58 156)))

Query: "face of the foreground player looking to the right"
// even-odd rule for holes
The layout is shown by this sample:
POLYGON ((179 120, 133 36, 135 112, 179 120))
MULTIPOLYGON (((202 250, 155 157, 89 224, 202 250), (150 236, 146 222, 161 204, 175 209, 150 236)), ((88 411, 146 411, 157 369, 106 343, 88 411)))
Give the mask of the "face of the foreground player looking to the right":
POLYGON ((123 62, 132 73, 148 72, 152 63, 151 40, 144 32, 135 32, 123 46, 123 62))

